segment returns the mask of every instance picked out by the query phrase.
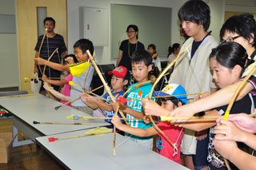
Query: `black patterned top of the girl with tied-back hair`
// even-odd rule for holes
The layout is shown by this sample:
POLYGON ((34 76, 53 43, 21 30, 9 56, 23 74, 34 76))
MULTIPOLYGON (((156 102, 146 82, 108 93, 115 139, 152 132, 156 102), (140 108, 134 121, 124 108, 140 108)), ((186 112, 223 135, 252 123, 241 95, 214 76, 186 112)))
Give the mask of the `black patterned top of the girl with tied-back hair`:
MULTIPOLYGON (((249 94, 247 94, 245 97, 243 97, 239 101, 235 101, 232 109, 230 110, 230 114, 236 114, 236 113, 251 113, 251 107, 253 101, 251 100, 249 94)), ((221 115, 224 115, 226 112, 228 105, 224 105, 221 107, 216 108, 218 113, 221 115)), ((209 162, 209 168, 212 169, 218 169, 218 170, 226 170, 226 164, 224 163, 224 158, 215 150, 213 145, 214 140, 214 127, 210 128, 210 142, 208 145, 208 156, 207 160, 209 162)), ((242 142, 237 142, 238 148, 242 149, 243 151, 248 151, 249 147, 246 144, 243 144, 242 142)), ((229 161, 230 168, 231 169, 238 169, 234 164, 232 164, 229 161)))

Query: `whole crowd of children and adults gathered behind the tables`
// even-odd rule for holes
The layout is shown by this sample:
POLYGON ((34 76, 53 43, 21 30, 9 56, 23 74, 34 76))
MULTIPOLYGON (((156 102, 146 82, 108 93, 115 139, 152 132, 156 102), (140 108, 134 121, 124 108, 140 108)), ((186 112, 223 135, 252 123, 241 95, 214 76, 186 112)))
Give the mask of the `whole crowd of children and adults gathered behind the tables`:
POLYGON ((120 101, 113 103, 108 93, 102 97, 87 93, 94 66, 90 64, 86 50, 94 53, 93 42, 80 39, 74 43, 74 54, 67 55, 62 36, 54 33, 53 18, 46 18, 44 21, 47 41, 42 35, 35 47, 34 72, 44 81, 41 92, 44 94, 46 89, 62 100, 62 103, 77 98, 69 106, 92 116, 95 109, 104 110, 103 116, 112 118, 112 121, 106 119, 106 122, 125 132, 126 137, 143 147, 152 149, 153 136, 158 134, 155 140, 156 152, 187 168, 256 168, 256 121, 251 116, 255 113, 256 73, 253 73, 238 93, 227 120, 222 117, 234 91, 256 65, 254 16, 239 14, 227 19, 220 30, 219 43, 209 30, 210 7, 206 2, 185 2, 178 10, 178 18, 181 23, 180 35, 185 41, 182 45, 174 43, 168 49, 166 59, 169 64, 179 58, 173 65, 168 85, 160 91, 154 91, 154 97, 160 98, 160 102, 154 97, 151 100, 142 99, 150 97, 153 87, 150 80, 152 70, 158 70, 154 75, 158 77, 164 68, 161 67, 156 45, 150 44, 145 50, 142 42, 138 42, 138 26, 127 27, 128 39, 119 47, 116 68, 109 72, 112 75, 111 93, 116 101, 120 101), (58 53, 48 60, 57 48, 58 53), (65 65, 62 65, 62 58, 65 65), (43 65, 47 65, 44 74, 38 71, 44 68, 43 65), (60 77, 62 71, 68 73, 64 79, 50 78, 60 77), (132 85, 131 77, 136 81, 132 85), (59 93, 59 86, 62 85, 62 93, 59 93), (129 89, 124 96, 127 100, 121 102, 125 89, 129 89), (196 93, 203 94, 198 96, 196 93), (115 115, 117 109, 122 110, 126 118, 132 118, 128 121, 129 125, 121 121, 119 113, 115 115), (158 128, 172 143, 166 136, 158 133, 152 122, 145 119, 146 115, 154 116, 158 128), (206 117, 219 118, 200 122, 178 118, 173 121, 158 120, 162 116, 194 115, 202 120, 206 120, 206 117))

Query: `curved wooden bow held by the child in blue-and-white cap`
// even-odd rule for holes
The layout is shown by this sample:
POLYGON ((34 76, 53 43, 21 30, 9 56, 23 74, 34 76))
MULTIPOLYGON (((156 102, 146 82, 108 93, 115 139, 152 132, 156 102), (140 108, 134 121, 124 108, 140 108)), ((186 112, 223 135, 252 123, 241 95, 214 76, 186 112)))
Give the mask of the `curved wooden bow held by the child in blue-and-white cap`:
MULTIPOLYGON (((164 69, 164 70, 162 71, 162 73, 158 76, 157 80, 154 81, 154 85, 152 85, 152 88, 151 88, 151 90, 150 90, 149 99, 151 99, 151 97, 152 97, 152 95, 153 95, 154 87, 155 87, 155 85, 158 84, 158 81, 160 81, 160 79, 161 79, 162 76, 168 71, 168 69, 170 69, 170 68, 175 64, 175 62, 178 60, 178 58, 180 58, 180 57, 183 55, 183 53, 186 52, 186 50, 190 47, 190 45, 192 45, 192 43, 190 43, 189 45, 187 45, 186 48, 182 51, 182 53, 179 53, 179 54, 178 54, 178 57, 176 57, 175 60, 170 63, 170 65, 167 65, 167 66, 166 66, 166 69, 164 69)), ((169 143, 170 143, 175 149, 177 149, 177 147, 176 147, 176 146, 174 145, 174 143, 169 139, 169 137, 166 136, 166 134, 165 134, 164 132, 162 132, 162 130, 161 130, 160 128, 158 128, 157 125, 155 125, 154 120, 153 120, 153 118, 151 117, 151 115, 150 115, 149 117, 150 117, 150 121, 151 121, 151 122, 153 123, 153 125, 154 125, 154 128, 156 128, 156 129, 158 130, 158 132, 160 132, 163 136, 165 136, 166 140, 168 140, 169 143)))

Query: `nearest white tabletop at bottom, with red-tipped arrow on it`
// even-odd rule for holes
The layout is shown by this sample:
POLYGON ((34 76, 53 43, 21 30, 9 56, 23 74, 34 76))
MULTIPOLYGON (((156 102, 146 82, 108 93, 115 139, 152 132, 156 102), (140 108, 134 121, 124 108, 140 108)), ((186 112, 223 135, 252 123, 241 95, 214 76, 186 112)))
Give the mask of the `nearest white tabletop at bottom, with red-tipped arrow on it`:
POLYGON ((187 169, 182 165, 142 147, 117 133, 116 154, 112 155, 113 133, 103 136, 84 136, 67 140, 49 142, 49 137, 77 136, 87 130, 67 132, 54 136, 36 138, 55 158, 70 169, 187 169))

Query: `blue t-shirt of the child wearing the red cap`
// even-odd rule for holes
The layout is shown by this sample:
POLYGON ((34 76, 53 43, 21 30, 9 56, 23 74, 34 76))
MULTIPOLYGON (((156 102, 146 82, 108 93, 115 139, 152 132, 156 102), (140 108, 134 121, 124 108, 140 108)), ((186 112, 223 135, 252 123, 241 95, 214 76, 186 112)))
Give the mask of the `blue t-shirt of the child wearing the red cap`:
MULTIPOLYGON (((116 101, 118 101, 118 97, 122 97, 122 95, 123 95, 123 93, 125 93, 125 91, 113 93, 113 90, 112 90, 111 93, 113 94, 114 99, 115 99, 116 101)), ((112 102, 112 100, 111 100, 111 98, 110 98, 110 95, 109 95, 108 93, 105 93, 105 94, 103 95, 103 98, 105 98, 106 100, 112 102)), ((106 102, 106 104, 110 105, 110 102, 108 102, 108 101, 105 101, 105 102, 106 102)), ((111 111, 111 112, 104 110, 104 112, 106 113, 106 117, 113 117, 113 115, 114 115, 114 113, 115 113, 114 110, 111 111)), ((120 113, 118 113, 118 116, 121 117, 120 113)), ((105 121, 108 122, 108 123, 111 123, 111 119, 105 119, 105 121)), ((122 123, 124 123, 123 120, 122 120, 122 123)))

